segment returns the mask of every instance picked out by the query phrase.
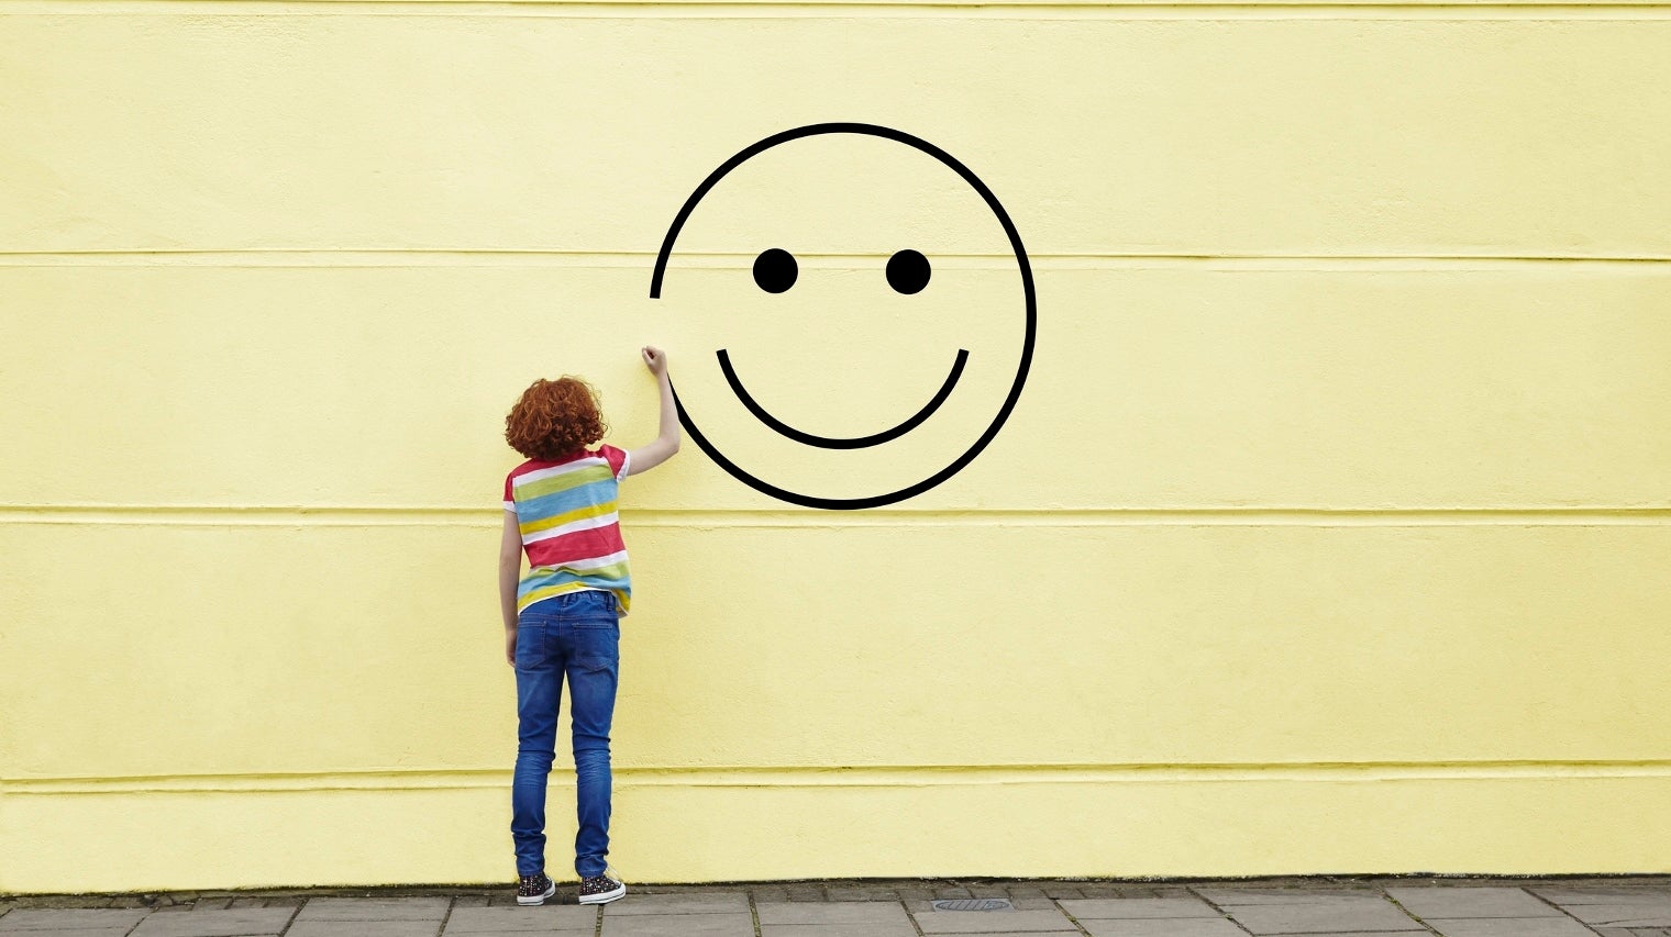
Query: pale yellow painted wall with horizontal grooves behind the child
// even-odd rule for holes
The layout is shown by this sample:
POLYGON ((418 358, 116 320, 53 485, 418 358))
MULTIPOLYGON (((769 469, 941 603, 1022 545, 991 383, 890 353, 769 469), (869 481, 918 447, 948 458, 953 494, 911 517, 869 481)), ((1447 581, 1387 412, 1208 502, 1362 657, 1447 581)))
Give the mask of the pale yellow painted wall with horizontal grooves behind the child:
POLYGON ((1013 372, 864 140, 648 299, 822 120, 1031 377, 627 483, 617 869, 1671 872, 1666 10, 0 0, 0 892, 508 880, 520 389, 849 494, 1013 372))

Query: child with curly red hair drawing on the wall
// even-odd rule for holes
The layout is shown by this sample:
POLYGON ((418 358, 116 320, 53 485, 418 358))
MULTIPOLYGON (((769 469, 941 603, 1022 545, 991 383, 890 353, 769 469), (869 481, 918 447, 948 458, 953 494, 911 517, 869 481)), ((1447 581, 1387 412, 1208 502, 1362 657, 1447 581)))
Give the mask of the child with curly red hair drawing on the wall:
POLYGON ((556 747, 556 705, 568 676, 575 730, 580 904, 612 902, 627 885, 605 875, 610 850, 610 720, 620 663, 620 616, 632 600, 627 546, 615 514, 620 479, 678 451, 667 354, 642 349, 662 391, 662 429, 650 444, 587 449, 607 429, 597 394, 578 377, 535 381, 510 416, 505 441, 528 456, 505 478, 500 610, 505 660, 516 668, 518 747, 511 780, 516 904, 556 894, 545 875, 545 780, 556 747), (528 573, 518 581, 521 555, 528 573))

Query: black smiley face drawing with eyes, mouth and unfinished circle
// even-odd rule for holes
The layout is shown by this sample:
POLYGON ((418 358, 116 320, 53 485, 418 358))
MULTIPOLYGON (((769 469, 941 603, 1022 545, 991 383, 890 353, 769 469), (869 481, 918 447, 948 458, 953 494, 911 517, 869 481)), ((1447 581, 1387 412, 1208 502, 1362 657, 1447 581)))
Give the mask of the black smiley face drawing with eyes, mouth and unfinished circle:
MULTIPOLYGON (((697 189, 690 194, 690 197, 685 199, 685 204, 680 207, 678 214, 673 217, 672 225, 667 229, 667 237, 662 241, 662 249, 655 259, 655 271, 650 277, 650 299, 662 299, 663 279, 667 277, 668 262, 673 256, 673 247, 678 242, 680 232, 685 229, 685 222, 690 220, 692 212, 697 209, 697 205, 702 204, 703 197, 709 195, 709 192, 720 180, 727 179, 729 175, 732 175, 734 170, 737 170, 754 157, 759 157, 760 154, 767 154, 769 150, 774 150, 775 147, 782 147, 784 144, 794 140, 805 140, 815 137, 846 139, 846 140, 871 139, 871 140, 887 140, 892 144, 902 144, 904 147, 911 147, 911 150, 916 150, 917 154, 926 154, 927 157, 932 157, 937 162, 937 167, 934 167, 936 172, 942 172, 944 169, 952 170, 961 179, 961 184, 964 184, 968 189, 973 189, 981 197, 981 202, 984 202, 984 210, 989 212, 989 215, 981 214, 981 217, 996 219, 998 225, 1001 225, 1003 237, 996 239, 994 242, 1003 244, 1004 241, 1008 241, 1008 251, 1004 252, 1013 254, 1016 264, 1014 269, 1019 271, 1019 287, 1021 287, 1019 297, 1013 296, 1014 289, 1013 286, 1006 286, 1004 289, 999 291, 1004 292, 1006 297, 998 297, 1003 307, 1016 311, 1023 317, 1021 322, 1023 331, 1019 336, 1021 337, 1019 357, 1011 359, 1009 356, 1003 356, 1004 361, 999 362, 998 359, 1001 356, 996 354, 986 354, 986 356, 973 354, 968 347, 947 349, 952 351, 952 354, 947 356, 949 357, 946 364, 947 371, 944 377, 939 379, 937 391, 934 391, 932 396, 929 396, 921 404, 912 401, 906 408, 901 408, 902 411, 909 411, 909 416, 906 416, 904 419, 894 423, 886 429, 877 429, 864 434, 810 433, 807 429, 797 428, 794 421, 782 419, 779 414, 772 413, 772 408, 762 404, 749 391, 745 376, 740 372, 739 366, 732 362, 729 349, 717 347, 715 362, 719 367, 719 374, 724 376, 724 381, 729 386, 730 393, 742 404, 742 408, 745 408, 747 414, 750 414, 759 424, 769 428, 784 439, 799 444, 804 454, 815 454, 820 451, 871 449, 877 446, 886 448, 886 444, 896 443, 902 438, 909 439, 912 436, 922 436, 924 424, 932 426, 932 418, 936 414, 946 413, 941 408, 947 401, 957 399, 959 393, 969 398, 978 398, 981 394, 981 391, 973 389, 968 382, 959 384, 964 379, 966 371, 969 372, 979 371, 988 376, 986 387, 989 387, 989 393, 986 393, 986 398, 996 398, 998 394, 1003 394, 1003 401, 998 404, 998 411, 991 414, 989 423, 986 423, 984 428, 979 429, 978 436, 973 441, 968 436, 964 436, 962 443, 951 443, 951 448, 939 456, 946 458, 946 454, 951 454, 949 463, 944 463, 939 468, 934 468, 932 471, 917 469, 919 473, 926 471, 926 476, 921 476, 917 481, 899 486, 892 491, 884 491, 876 494, 862 494, 852 498, 829 498, 774 484, 770 481, 759 478, 757 473, 742 468, 737 463, 737 459, 732 459, 724 451, 720 451, 720 446, 717 446, 715 441, 712 441, 710 436, 702 431, 702 428, 693 419, 690 409, 687 409, 685 399, 680 398, 677 387, 673 389, 673 404, 678 409, 680 424, 697 443, 697 446, 700 446, 702 451, 707 453, 709 458, 714 459, 715 464, 724 468, 732 478, 742 481, 744 484, 754 488, 755 491, 760 491, 762 494, 769 494, 780 501, 807 508, 822 508, 822 509, 877 508, 884 504, 894 504, 897 501, 904 501, 907 498, 921 494, 941 484, 942 481, 949 479, 951 476, 957 474, 964 466, 974 461, 974 458, 979 456, 983 449, 986 449, 986 446, 998 436, 998 431, 1004 426, 1004 421, 1014 409, 1016 401, 1021 398, 1021 387, 1023 384, 1026 384, 1028 369, 1033 362, 1033 344, 1034 344, 1036 319, 1038 319, 1036 296, 1033 286, 1033 269, 1028 264, 1026 249, 1021 246, 1021 236, 1016 232, 1014 222, 1009 219, 1009 214, 999 204, 998 197, 993 194, 991 189, 986 187, 984 182, 981 182, 979 177, 974 175, 974 172, 969 170, 969 167, 961 164, 946 150, 936 147, 934 144, 929 144, 927 140, 906 134, 902 130, 894 130, 891 127, 882 127, 876 124, 846 124, 846 122, 810 124, 805 127, 797 127, 794 130, 784 130, 780 134, 774 134, 770 137, 765 137, 764 140, 750 144, 749 147, 742 149, 734 157, 725 160, 707 179, 703 179, 700 185, 697 185, 697 189), (991 364, 988 364, 989 361, 991 364), (1009 371, 1009 361, 1014 361, 1013 374, 1009 371), (1003 367, 1003 372, 999 372, 994 379, 993 372, 996 367, 1003 367)), ((966 192, 962 185, 954 185, 954 187, 966 192)), ((979 212, 979 209, 976 210, 979 212)), ((973 219, 974 215, 959 215, 959 217, 973 219)), ((991 222, 988 220, 981 224, 989 227, 991 222)), ((971 227, 974 227, 973 220, 971 227)), ((750 249, 750 252, 754 251, 750 249)), ((939 286, 936 279, 939 281, 944 281, 946 277, 954 279, 956 274, 959 272, 962 271, 956 269, 954 266, 936 271, 934 259, 907 246, 901 246, 901 249, 892 251, 892 254, 886 261, 886 267, 882 271, 876 271, 876 274, 881 274, 879 279, 886 279, 886 286, 894 294, 894 297, 902 302, 909 302, 916 297, 921 297, 926 291, 932 291, 932 286, 939 286), (939 274, 939 277, 936 277, 936 274, 939 274)), ((772 246, 760 251, 755 256, 752 266, 754 286, 759 289, 760 294, 765 294, 767 297, 785 297, 792 292, 792 289, 797 284, 805 286, 805 289, 812 289, 809 286, 809 281, 817 279, 819 274, 822 274, 822 271, 815 269, 805 272, 800 271, 795 256, 790 251, 785 251, 784 247, 779 246, 772 246)), ((988 301, 988 296, 984 292, 981 294, 981 301, 983 302, 988 301)), ((911 316, 909 306, 904 306, 902 309, 904 312, 899 312, 899 316, 911 316)), ((846 312, 846 309, 842 309, 842 312, 846 312)), ((947 317, 956 319, 956 316, 942 316, 942 319, 947 317)), ((956 339, 952 341, 956 342, 956 339)), ((839 376, 832 376, 830 379, 839 381, 839 376)), ((829 387, 829 393, 839 393, 839 391, 841 391, 839 387, 829 387)), ((971 423, 969 408, 983 404, 971 403, 969 406, 964 408, 964 413, 961 413, 961 416, 951 418, 957 421, 957 426, 947 428, 944 433, 939 434, 939 439, 954 439, 954 436, 959 431, 968 433, 968 426, 964 424, 971 423)), ((984 406, 991 406, 991 403, 986 403, 984 406)), ((956 409, 956 408, 947 408, 947 409, 956 409)), ((991 411, 988 409, 986 413, 991 411)), ((979 423, 979 419, 976 419, 974 423, 979 423)), ((941 443, 941 448, 944 448, 944 443, 941 443)), ((894 484, 897 484, 897 479, 887 483, 886 488, 892 488, 894 484)))

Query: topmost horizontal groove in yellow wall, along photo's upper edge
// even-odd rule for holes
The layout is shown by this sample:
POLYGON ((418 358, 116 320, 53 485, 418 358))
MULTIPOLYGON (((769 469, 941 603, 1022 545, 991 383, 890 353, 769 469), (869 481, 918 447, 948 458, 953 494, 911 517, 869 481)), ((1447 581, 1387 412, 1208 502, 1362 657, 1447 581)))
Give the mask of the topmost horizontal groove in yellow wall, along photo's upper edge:
POLYGON ((531 18, 1469 18, 1469 20, 1649 20, 1671 17, 1659 0, 1641 3, 1546 3, 1387 0, 1327 3, 1225 3, 1223 0, 842 0, 839 3, 750 3, 710 0, 0 0, 5 15, 237 15, 237 17, 531 17, 531 18))

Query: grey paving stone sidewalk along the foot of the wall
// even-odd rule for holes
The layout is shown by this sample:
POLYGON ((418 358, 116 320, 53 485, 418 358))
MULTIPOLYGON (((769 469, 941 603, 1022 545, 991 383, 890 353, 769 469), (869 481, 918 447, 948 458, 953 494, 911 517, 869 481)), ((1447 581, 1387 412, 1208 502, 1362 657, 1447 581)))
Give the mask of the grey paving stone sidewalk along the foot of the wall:
POLYGON ((0 897, 0 937, 1671 937, 1671 877, 1295 877, 0 897), (961 909, 936 907, 956 902, 961 909), (1001 905, 973 910, 968 905, 1001 905), (968 910, 966 910, 968 909, 968 910))

